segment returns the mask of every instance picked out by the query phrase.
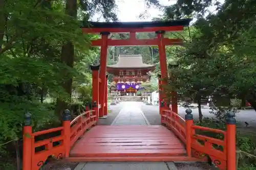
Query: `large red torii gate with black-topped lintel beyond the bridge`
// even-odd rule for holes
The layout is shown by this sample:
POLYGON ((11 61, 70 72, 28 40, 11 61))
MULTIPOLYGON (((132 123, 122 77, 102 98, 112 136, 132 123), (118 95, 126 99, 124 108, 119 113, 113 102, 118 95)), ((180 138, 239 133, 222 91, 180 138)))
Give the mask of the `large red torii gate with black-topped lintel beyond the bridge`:
MULTIPOLYGON (((167 63, 166 63, 166 45, 181 45, 182 39, 164 38, 165 32, 182 31, 189 25, 191 19, 181 19, 172 21, 154 21, 154 22, 87 22, 87 26, 82 28, 84 33, 100 34, 101 39, 93 40, 92 46, 100 46, 100 71, 99 66, 91 66, 93 70, 93 101, 96 103, 96 112, 98 117, 108 114, 108 98, 106 84, 106 62, 108 56, 108 46, 158 46, 159 60, 161 69, 160 84, 166 84, 167 63), (155 32, 157 38, 137 39, 137 32, 155 32), (129 39, 109 39, 110 33, 130 33, 129 39), (99 75, 98 75, 99 74, 99 75), (100 84, 99 84, 100 83, 100 84)), ((164 101, 164 95, 159 94, 160 108, 166 109, 168 106, 164 101)), ((177 113, 177 93, 172 92, 172 110, 177 113)))

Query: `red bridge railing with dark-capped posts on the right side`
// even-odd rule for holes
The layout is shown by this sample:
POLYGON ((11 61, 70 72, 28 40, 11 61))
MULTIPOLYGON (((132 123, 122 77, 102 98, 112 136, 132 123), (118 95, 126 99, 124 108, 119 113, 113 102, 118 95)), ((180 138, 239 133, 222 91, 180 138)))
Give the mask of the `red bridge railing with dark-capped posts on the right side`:
POLYGON ((229 112, 226 131, 194 125, 191 109, 186 110, 185 119, 177 113, 162 109, 161 122, 172 130, 186 145, 188 157, 208 157, 221 170, 236 169, 236 119, 229 112), (217 133, 222 139, 197 134, 198 131, 217 133))

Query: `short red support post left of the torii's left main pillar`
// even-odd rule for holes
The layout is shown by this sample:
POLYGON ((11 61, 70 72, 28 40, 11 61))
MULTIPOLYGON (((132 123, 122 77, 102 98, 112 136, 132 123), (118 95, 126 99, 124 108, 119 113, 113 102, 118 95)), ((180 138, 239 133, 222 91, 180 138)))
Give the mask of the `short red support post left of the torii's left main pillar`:
POLYGON ((91 65, 91 70, 93 72, 93 83, 92 83, 92 100, 94 103, 94 110, 96 115, 96 120, 99 118, 99 65, 91 65))

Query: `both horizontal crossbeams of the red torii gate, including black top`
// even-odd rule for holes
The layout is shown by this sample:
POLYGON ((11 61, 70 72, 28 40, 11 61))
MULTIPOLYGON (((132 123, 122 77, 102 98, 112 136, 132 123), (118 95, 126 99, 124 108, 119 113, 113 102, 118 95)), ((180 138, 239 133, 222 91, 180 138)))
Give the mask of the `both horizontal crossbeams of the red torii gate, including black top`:
MULTIPOLYGON (((157 46, 159 39, 137 39, 136 32, 164 33, 182 31, 189 25, 191 19, 153 21, 153 22, 86 22, 82 27, 84 33, 101 35, 110 33, 130 33, 129 39, 108 39, 108 46, 157 46)), ((102 39, 92 41, 92 46, 101 46, 102 39)), ((162 38, 163 45, 182 45, 182 39, 162 38)))

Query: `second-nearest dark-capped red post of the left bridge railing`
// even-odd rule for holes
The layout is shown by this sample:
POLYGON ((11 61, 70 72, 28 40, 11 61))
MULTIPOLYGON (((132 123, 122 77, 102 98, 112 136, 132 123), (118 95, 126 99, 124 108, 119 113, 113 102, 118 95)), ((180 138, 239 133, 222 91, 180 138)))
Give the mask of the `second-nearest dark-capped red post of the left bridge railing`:
POLYGON ((71 120, 71 114, 68 109, 64 110, 63 112, 63 135, 64 135, 64 140, 63 143, 65 145, 65 157, 69 157, 69 152, 70 152, 70 137, 71 137, 71 127, 70 127, 70 120, 71 120))

